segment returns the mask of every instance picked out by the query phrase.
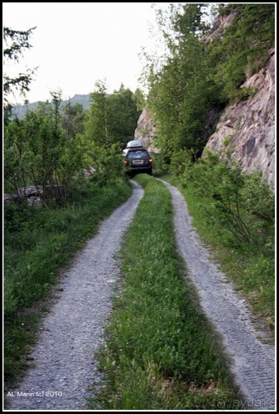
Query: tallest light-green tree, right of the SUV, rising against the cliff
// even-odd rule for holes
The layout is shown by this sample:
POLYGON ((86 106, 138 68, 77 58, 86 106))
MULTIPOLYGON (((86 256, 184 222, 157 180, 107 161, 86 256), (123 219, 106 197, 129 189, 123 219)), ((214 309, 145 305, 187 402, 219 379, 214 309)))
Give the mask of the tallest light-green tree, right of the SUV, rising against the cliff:
POLYGON ((147 105, 156 123, 156 146, 167 156, 181 148, 201 152, 206 144, 204 121, 217 101, 217 87, 202 36, 203 4, 171 6, 167 21, 160 19, 169 56, 149 75, 147 105), (171 27, 172 31, 167 31, 171 27))

